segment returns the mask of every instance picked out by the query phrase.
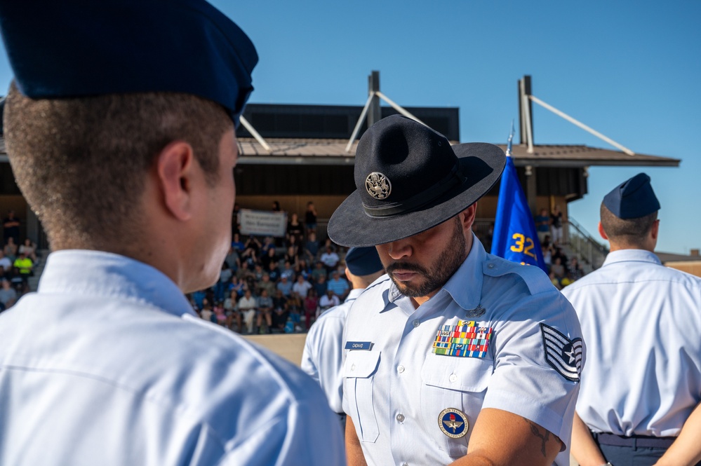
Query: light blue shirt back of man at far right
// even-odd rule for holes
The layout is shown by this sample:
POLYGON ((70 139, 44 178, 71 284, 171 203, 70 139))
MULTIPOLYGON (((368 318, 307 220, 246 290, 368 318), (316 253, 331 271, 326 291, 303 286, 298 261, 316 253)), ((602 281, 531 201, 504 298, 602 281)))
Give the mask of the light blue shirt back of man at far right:
POLYGON ((701 279, 621 249, 563 294, 589 351, 580 418, 594 432, 676 437, 701 401, 701 279))

